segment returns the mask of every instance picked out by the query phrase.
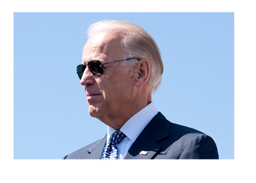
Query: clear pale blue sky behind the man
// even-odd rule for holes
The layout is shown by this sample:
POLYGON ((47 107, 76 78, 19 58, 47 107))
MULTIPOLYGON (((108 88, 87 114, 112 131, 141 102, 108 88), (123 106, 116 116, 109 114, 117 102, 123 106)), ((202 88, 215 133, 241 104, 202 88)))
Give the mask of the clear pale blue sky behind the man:
POLYGON ((153 36, 164 64, 157 109, 234 159, 234 13, 14 13, 14 159, 61 159, 106 134, 76 74, 88 26, 104 19, 153 36))

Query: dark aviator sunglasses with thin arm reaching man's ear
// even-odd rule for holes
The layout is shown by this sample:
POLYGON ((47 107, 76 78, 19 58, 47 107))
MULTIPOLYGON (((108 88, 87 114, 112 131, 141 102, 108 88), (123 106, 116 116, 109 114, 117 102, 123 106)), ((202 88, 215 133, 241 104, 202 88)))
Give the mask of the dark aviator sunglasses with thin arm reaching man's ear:
MULTIPOLYGON (((136 57, 127 58, 127 59, 124 59, 124 60, 132 60, 132 59, 136 59, 136 60, 140 61, 140 59, 136 58, 136 57)), ((118 61, 124 61, 124 60, 118 60, 118 61)), ((112 61, 112 62, 109 62, 109 63, 115 63, 115 62, 118 62, 118 61, 112 61)), ((92 60, 92 61, 89 61, 88 63, 83 63, 83 64, 80 64, 80 65, 77 65, 76 73, 77 73, 79 79, 81 79, 82 76, 83 76, 84 70, 86 69, 86 65, 87 65, 90 72, 92 72, 93 75, 102 76, 103 68, 104 68, 103 65, 107 65, 109 63, 101 63, 99 60, 92 60)))

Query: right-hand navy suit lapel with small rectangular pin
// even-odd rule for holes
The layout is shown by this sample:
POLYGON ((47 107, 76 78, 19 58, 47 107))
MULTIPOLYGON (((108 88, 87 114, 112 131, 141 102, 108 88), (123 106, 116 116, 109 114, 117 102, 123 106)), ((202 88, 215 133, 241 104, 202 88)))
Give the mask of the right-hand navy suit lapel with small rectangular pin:
POLYGON ((161 151, 157 141, 170 134, 171 123, 158 113, 134 141, 124 159, 154 159, 161 151))

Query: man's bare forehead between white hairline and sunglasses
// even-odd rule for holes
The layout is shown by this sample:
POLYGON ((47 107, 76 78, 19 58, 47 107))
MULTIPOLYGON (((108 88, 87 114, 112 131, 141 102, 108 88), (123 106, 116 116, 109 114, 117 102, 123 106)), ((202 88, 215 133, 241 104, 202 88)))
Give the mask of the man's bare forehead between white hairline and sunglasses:
POLYGON ((123 53, 121 38, 116 33, 97 33, 91 36, 83 49, 83 61, 120 58, 123 53))

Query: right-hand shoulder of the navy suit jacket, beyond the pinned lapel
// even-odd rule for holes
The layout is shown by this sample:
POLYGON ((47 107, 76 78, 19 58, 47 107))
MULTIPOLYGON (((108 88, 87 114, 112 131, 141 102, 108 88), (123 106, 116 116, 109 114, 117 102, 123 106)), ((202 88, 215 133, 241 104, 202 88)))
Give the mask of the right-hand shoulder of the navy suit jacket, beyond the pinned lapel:
POLYGON ((216 143, 204 132, 169 122, 161 113, 157 114, 156 120, 170 124, 168 138, 159 141, 163 150, 159 158, 163 154, 166 159, 218 159, 216 143))

